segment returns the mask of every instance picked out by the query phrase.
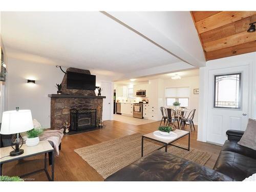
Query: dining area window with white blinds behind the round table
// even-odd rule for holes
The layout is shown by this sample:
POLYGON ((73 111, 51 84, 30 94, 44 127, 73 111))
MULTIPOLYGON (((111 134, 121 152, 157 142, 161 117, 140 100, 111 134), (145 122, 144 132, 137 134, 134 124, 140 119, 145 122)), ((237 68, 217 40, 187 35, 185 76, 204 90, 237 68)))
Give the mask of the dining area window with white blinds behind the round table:
POLYGON ((165 101, 167 106, 173 106, 174 102, 181 103, 180 106, 188 107, 190 89, 189 87, 182 88, 166 88, 165 101))

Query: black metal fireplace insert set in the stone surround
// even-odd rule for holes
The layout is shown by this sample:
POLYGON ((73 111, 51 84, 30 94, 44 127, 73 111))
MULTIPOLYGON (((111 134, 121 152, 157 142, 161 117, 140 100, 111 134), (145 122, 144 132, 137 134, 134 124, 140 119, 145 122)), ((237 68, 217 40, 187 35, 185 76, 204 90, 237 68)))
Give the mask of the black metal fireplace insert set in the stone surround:
POLYGON ((70 131, 82 131, 96 128, 96 109, 71 109, 70 131))

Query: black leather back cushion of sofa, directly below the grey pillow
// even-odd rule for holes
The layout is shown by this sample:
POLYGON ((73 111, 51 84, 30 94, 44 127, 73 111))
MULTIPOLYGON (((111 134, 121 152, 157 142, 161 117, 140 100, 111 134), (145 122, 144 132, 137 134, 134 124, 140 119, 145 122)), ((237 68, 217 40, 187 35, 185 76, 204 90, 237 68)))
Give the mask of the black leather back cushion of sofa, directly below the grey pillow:
POLYGON ((256 151, 252 150, 251 148, 242 146, 237 143, 237 141, 234 140, 226 140, 221 151, 228 151, 228 152, 234 152, 241 155, 245 155, 247 157, 251 157, 253 159, 256 159, 256 151))

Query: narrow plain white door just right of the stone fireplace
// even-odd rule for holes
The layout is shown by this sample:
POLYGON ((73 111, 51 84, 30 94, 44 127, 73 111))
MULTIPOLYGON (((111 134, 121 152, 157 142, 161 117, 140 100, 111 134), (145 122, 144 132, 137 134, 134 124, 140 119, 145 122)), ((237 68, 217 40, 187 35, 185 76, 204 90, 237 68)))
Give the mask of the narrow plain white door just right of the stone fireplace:
POLYGON ((111 120, 112 112, 112 82, 101 82, 102 96, 106 96, 103 99, 103 109, 102 109, 102 120, 111 120))

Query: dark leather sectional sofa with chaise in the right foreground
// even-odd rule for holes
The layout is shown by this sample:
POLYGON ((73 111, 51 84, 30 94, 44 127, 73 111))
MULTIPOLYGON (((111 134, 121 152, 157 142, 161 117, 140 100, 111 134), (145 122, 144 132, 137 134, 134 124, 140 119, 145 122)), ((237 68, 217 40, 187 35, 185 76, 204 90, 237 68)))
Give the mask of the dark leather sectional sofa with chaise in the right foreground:
POLYGON ((228 130, 214 169, 155 151, 118 170, 105 181, 242 181, 256 173, 256 151, 239 145, 244 132, 228 130))

